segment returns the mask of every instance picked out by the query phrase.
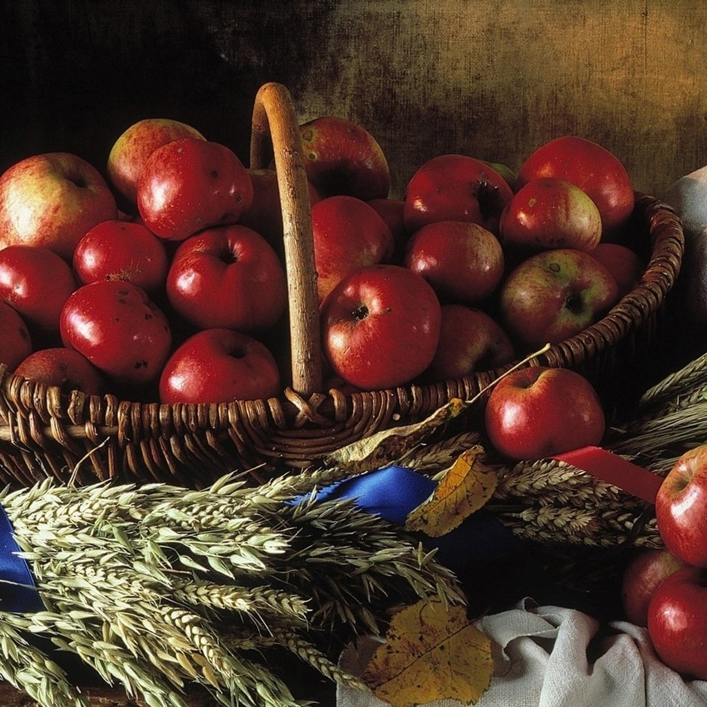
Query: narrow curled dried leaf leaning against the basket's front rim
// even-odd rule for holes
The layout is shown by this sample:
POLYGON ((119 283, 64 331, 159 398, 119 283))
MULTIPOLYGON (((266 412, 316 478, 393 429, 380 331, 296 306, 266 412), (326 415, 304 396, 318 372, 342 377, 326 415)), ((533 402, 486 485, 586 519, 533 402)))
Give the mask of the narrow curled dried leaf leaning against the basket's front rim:
POLYGON ((453 398, 421 422, 382 430, 332 452, 325 464, 346 467, 352 474, 372 471, 401 459, 439 426, 467 409, 467 403, 453 398))

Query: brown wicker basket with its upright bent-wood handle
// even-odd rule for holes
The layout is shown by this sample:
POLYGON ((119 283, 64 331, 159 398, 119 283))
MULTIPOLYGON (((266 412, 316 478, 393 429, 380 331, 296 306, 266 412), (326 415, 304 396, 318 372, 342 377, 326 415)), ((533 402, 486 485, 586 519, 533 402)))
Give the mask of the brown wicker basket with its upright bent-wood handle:
MULTIPOLYGON (((115 477, 200 487, 238 470, 259 483, 276 469, 306 467, 343 445, 427 416, 452 398, 471 399, 513 365, 395 390, 322 390, 308 182, 293 100, 274 82, 261 86, 255 98, 251 167, 263 166, 267 148, 274 155, 283 216, 291 385, 271 399, 132 402, 62 392, 0 364, 0 480, 25 485, 47 475, 76 482, 115 477)), ((529 364, 581 367, 653 326, 679 274, 682 224, 670 206, 640 192, 633 218, 636 228, 648 230, 651 247, 641 281, 602 320, 529 364)))

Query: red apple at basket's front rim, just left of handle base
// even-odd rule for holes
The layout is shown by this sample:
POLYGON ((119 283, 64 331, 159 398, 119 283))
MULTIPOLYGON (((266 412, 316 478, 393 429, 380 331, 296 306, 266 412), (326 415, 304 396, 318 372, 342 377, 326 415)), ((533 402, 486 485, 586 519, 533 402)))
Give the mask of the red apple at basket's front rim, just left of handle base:
POLYGON ((168 404, 266 399, 279 393, 279 370, 257 339, 233 329, 204 329, 170 356, 159 390, 168 404))

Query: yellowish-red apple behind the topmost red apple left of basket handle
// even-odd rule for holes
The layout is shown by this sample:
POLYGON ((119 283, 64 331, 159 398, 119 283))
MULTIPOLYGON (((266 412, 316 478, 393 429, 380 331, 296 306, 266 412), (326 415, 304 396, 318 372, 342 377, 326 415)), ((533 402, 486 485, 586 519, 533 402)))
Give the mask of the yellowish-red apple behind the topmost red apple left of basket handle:
POLYGON ((108 154, 106 169, 126 208, 136 208, 137 182, 147 158, 158 147, 184 137, 206 139, 196 128, 172 118, 139 120, 118 137, 108 154))

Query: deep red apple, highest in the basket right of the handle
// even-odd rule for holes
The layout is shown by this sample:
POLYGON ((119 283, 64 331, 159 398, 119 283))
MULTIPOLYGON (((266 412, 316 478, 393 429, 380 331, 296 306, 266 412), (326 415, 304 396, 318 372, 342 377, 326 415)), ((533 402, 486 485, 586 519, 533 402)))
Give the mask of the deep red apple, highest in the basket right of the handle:
POLYGON ((539 146, 521 165, 515 191, 538 177, 566 180, 594 201, 604 240, 617 240, 633 213, 635 194, 624 164, 607 148, 576 135, 539 146))

